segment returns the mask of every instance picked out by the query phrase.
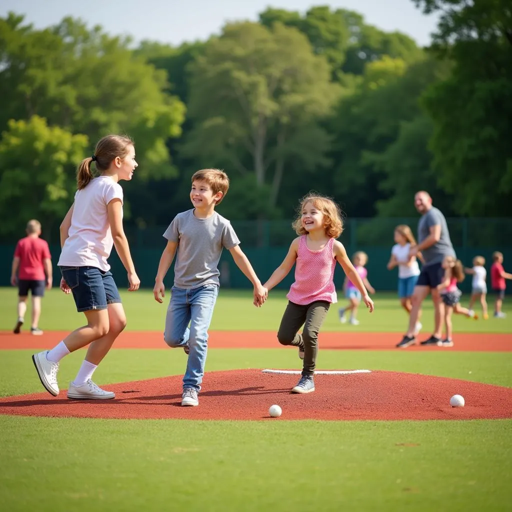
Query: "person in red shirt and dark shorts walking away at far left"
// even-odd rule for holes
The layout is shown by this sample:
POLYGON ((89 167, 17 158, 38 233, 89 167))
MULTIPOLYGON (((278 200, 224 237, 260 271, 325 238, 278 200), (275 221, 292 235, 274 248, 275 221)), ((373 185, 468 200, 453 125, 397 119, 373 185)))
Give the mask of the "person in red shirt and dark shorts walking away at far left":
POLYGON ((27 297, 32 293, 32 334, 42 334, 39 329, 41 297, 45 288, 52 287, 52 257, 48 243, 39 238, 41 224, 36 220, 27 223, 27 236, 18 241, 12 260, 11 284, 18 286, 18 321, 14 333, 19 334, 27 311, 27 297))

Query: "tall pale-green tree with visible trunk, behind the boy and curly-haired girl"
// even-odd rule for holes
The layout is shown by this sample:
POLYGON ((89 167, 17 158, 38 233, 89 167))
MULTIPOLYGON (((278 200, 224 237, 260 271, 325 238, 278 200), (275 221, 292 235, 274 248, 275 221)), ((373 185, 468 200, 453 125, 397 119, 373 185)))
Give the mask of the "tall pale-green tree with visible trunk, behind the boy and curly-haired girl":
MULTIPOLYGON (((189 115, 194 129, 185 152, 202 165, 228 162, 241 176, 270 185, 275 207, 285 170, 301 161, 325 163, 329 137, 318 124, 337 97, 324 57, 298 30, 276 23, 227 25, 191 68, 189 115)), ((262 210, 265 216, 268 211, 262 210)))

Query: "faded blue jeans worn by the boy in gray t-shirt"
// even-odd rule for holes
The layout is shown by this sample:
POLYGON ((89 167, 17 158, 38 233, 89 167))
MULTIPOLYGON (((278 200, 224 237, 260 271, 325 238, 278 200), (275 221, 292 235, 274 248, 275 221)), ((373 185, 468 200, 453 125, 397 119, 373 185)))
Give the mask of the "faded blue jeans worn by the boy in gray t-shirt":
POLYGON ((188 345, 190 348, 183 389, 201 391, 208 351, 208 328, 218 294, 219 286, 216 284, 186 289, 173 286, 171 290, 163 338, 169 347, 188 345))

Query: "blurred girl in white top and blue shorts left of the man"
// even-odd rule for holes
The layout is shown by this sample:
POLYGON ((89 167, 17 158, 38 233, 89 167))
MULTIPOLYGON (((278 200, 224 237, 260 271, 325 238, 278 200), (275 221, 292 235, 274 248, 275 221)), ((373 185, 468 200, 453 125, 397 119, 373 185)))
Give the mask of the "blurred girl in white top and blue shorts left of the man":
MULTIPOLYGON (((388 270, 398 267, 398 297, 400 304, 408 313, 411 313, 411 297, 418 281, 419 266, 416 257, 409 257, 411 245, 416 245, 416 240, 411 228, 400 224, 395 228, 395 245, 391 249, 391 258, 388 270)), ((421 254, 418 255, 421 258, 421 254)), ((416 324, 416 332, 421 329, 421 324, 416 324)))

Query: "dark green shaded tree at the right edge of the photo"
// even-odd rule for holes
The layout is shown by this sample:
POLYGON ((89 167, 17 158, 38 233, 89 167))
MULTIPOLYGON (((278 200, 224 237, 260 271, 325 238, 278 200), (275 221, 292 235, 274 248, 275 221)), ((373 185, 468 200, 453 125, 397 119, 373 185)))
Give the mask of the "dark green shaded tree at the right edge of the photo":
POLYGON ((512 215, 512 9, 506 0, 416 0, 441 11, 433 52, 454 62, 424 104, 439 183, 459 214, 512 215))

